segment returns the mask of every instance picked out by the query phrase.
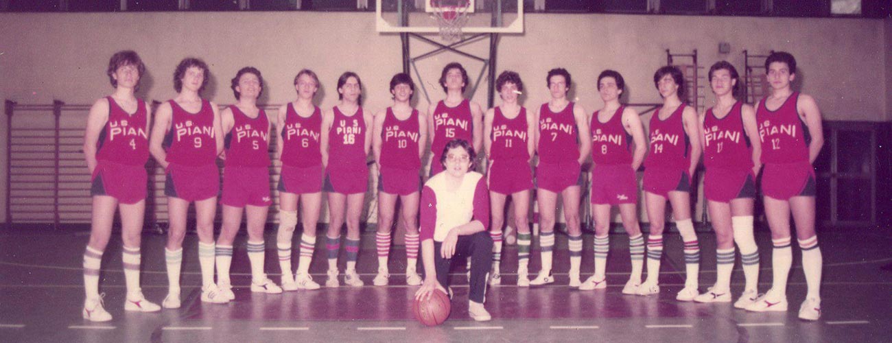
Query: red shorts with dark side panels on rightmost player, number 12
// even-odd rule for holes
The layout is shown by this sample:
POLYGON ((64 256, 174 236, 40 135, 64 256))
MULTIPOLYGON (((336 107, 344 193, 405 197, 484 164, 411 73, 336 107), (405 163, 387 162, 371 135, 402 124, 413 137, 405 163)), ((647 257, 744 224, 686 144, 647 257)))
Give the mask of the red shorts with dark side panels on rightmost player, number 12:
POLYGON ((808 162, 765 164, 762 169, 762 194, 777 200, 814 197, 814 167, 808 162))

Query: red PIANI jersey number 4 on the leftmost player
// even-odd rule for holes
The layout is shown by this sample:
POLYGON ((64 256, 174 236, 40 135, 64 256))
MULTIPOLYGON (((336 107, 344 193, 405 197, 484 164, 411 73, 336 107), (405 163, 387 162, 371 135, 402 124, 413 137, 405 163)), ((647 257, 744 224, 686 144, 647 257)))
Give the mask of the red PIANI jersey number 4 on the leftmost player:
POLYGON ((136 112, 129 114, 111 96, 109 118, 96 142, 96 159, 124 165, 142 166, 149 159, 149 135, 145 102, 136 100, 136 112))

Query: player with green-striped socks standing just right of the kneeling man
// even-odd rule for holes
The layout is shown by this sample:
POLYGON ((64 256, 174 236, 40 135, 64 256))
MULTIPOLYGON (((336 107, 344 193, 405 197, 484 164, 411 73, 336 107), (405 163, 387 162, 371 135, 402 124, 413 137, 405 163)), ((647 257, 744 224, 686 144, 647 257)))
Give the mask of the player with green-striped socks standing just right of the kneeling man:
POLYGON ((517 226, 517 286, 530 285, 527 265, 530 261, 530 226, 527 214, 530 209, 530 189, 533 188, 533 172, 530 157, 533 156, 533 135, 536 121, 533 113, 517 102, 524 92, 524 82, 516 72, 505 70, 496 78, 496 89, 502 102, 486 111, 483 118, 483 146, 489 155, 486 173, 490 186, 492 225, 492 271, 490 284, 501 283, 500 262, 502 225, 505 224, 505 202, 508 196, 514 201, 517 226))

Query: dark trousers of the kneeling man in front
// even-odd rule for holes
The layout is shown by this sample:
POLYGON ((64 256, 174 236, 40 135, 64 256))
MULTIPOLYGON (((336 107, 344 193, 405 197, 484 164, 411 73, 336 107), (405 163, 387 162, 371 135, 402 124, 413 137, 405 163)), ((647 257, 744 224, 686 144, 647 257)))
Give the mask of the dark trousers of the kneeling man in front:
POLYGON ((455 247, 455 255, 452 258, 443 258, 440 249, 441 241, 434 241, 434 267, 437 271, 437 281, 443 287, 449 287, 449 270, 452 260, 456 257, 471 257, 470 294, 468 298, 476 303, 483 304, 486 292, 486 274, 492 266, 492 238, 490 233, 482 231, 469 236, 458 236, 455 247))

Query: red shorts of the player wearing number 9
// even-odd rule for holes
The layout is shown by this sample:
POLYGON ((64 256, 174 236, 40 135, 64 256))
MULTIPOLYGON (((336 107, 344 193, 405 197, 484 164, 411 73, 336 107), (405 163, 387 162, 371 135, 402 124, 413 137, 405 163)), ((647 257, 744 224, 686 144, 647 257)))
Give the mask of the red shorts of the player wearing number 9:
POLYGON ((192 202, 216 197, 219 191, 220 173, 216 164, 168 165, 164 195, 192 202))

